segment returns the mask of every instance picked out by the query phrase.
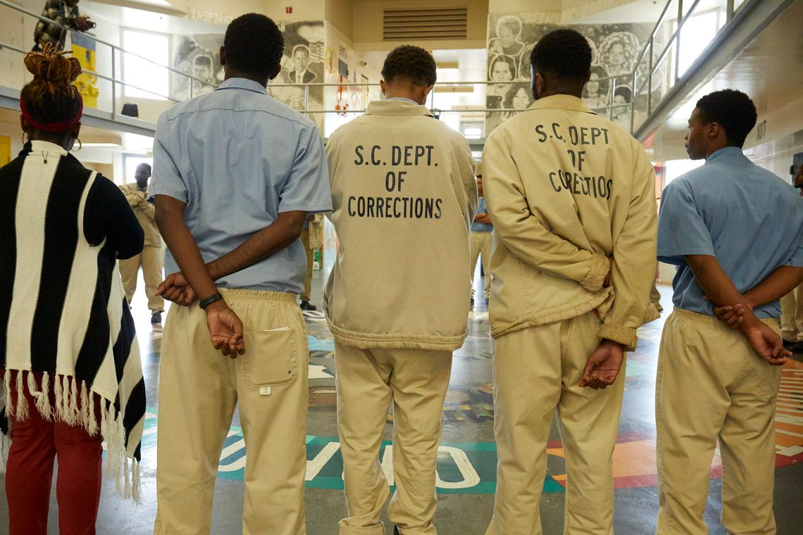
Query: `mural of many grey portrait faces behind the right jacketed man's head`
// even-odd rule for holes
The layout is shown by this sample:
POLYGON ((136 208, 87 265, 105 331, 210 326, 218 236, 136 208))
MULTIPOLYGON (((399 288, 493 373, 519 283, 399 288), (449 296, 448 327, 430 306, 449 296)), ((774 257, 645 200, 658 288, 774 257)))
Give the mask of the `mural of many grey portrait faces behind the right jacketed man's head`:
MULTIPOLYGON (((503 120, 532 102, 530 53, 540 39, 558 26, 537 22, 540 14, 491 14, 488 17, 488 81, 486 136, 503 120), (524 104, 524 99, 527 103, 524 104)), ((653 29, 650 24, 599 24, 569 26, 591 47, 591 79, 583 100, 602 116, 630 129, 633 70, 638 54, 653 29)), ((640 82, 640 81, 639 81, 640 82)))

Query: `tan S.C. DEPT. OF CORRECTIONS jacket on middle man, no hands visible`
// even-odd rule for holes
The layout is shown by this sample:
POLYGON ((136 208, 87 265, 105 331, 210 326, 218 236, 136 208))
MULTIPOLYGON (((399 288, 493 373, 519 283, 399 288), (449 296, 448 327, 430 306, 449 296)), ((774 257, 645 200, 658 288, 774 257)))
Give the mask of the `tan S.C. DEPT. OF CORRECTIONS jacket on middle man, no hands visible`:
POLYGON ((324 309, 335 340, 462 346, 477 205, 467 141, 426 107, 392 99, 338 128, 326 156, 338 248, 324 309))

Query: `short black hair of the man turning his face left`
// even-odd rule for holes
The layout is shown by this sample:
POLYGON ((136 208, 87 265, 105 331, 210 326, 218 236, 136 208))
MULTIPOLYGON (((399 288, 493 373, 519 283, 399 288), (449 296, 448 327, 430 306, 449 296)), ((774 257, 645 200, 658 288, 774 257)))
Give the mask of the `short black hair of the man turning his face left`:
POLYGON ((697 101, 697 109, 704 124, 719 123, 725 129, 728 143, 738 147, 744 145, 758 119, 750 97, 735 89, 708 93, 697 101))

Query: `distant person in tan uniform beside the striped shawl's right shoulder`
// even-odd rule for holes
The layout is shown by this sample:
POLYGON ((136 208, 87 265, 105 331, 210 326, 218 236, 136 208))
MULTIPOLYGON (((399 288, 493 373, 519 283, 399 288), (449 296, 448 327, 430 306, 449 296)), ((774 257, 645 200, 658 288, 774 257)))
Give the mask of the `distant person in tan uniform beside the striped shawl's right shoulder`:
POLYGON ((137 216, 142 230, 145 231, 145 247, 142 252, 127 260, 120 261, 120 275, 123 277, 123 287, 128 303, 137 291, 137 275, 142 267, 142 278, 145 279, 145 295, 148 296, 148 308, 151 311, 151 323, 154 325, 161 323, 161 313, 165 311, 165 300, 160 295, 156 295, 156 289, 162 281, 163 272, 161 269, 161 234, 157 229, 153 204, 149 203, 145 197, 148 195, 148 179, 150 178, 151 167, 149 164, 137 165, 134 173, 136 182, 123 184, 120 190, 125 195, 125 200, 137 216))

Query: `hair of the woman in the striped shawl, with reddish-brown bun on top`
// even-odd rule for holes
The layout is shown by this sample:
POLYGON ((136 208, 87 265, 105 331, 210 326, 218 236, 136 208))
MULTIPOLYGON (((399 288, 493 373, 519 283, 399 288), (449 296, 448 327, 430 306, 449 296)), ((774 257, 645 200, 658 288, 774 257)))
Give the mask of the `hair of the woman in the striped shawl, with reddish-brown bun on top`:
POLYGON ((31 119, 41 124, 75 121, 83 108, 81 94, 72 85, 81 74, 81 64, 67 54, 71 51, 59 52, 45 43, 41 52, 25 55, 25 67, 34 79, 22 87, 19 96, 31 119))

